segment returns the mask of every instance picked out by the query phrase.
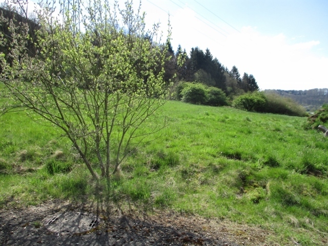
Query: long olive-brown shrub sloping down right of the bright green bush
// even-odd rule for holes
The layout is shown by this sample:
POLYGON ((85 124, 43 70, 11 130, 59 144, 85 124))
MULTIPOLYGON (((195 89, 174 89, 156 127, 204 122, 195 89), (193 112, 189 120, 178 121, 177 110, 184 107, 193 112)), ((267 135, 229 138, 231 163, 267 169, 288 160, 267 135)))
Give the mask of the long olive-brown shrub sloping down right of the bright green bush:
POLYGON ((257 111, 301 117, 307 115, 305 108, 292 98, 282 97, 276 93, 267 93, 263 96, 266 98, 265 106, 257 111))

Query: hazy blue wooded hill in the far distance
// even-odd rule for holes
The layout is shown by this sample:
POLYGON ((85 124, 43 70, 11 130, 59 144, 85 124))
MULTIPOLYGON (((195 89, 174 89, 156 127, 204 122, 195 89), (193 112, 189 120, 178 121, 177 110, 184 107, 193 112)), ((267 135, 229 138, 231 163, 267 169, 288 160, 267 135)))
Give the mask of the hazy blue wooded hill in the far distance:
POLYGON ((297 103, 304 106, 306 111, 313 112, 320 108, 323 104, 328 104, 328 89, 311 89, 304 91, 296 90, 264 90, 264 92, 274 92, 284 97, 290 97, 297 103))

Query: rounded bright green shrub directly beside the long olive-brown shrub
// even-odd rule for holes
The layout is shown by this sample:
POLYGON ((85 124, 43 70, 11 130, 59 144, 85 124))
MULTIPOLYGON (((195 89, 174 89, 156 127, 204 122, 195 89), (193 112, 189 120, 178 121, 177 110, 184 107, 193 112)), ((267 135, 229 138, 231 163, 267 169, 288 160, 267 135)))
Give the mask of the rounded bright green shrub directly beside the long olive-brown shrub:
POLYGON ((245 109, 247 111, 260 111, 265 106, 266 100, 262 93, 253 92, 245 93, 233 100, 233 107, 245 109))

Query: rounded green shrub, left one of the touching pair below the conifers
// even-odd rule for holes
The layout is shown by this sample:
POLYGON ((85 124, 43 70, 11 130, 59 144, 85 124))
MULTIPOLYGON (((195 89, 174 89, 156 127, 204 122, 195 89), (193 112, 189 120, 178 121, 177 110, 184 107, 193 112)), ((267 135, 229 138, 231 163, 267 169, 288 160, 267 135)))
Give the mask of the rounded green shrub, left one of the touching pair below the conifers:
POLYGON ((207 99, 206 87, 199 83, 188 83, 181 91, 182 101, 191 104, 205 104, 207 99))

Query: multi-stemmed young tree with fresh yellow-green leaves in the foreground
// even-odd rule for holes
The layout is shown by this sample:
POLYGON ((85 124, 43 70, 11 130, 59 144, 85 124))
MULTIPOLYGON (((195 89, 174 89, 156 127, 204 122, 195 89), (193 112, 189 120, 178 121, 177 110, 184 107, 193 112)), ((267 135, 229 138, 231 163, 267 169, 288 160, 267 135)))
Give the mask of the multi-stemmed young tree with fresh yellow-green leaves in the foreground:
POLYGON ((163 65, 168 46, 155 38, 158 25, 146 31, 145 14, 140 15, 140 6, 135 12, 130 1, 125 9, 115 4, 112 10, 106 1, 85 2, 73 6, 73 14, 62 6, 60 22, 51 4, 38 12, 41 28, 33 56, 26 49, 28 25, 22 30, 0 18, 11 37, 10 52, 0 53, 1 97, 8 98, 3 112, 28 110, 50 122, 71 140, 95 179, 92 155, 101 176, 108 177, 131 145, 158 130, 139 128, 167 100, 163 65), (76 16, 83 22, 77 23, 76 16))

